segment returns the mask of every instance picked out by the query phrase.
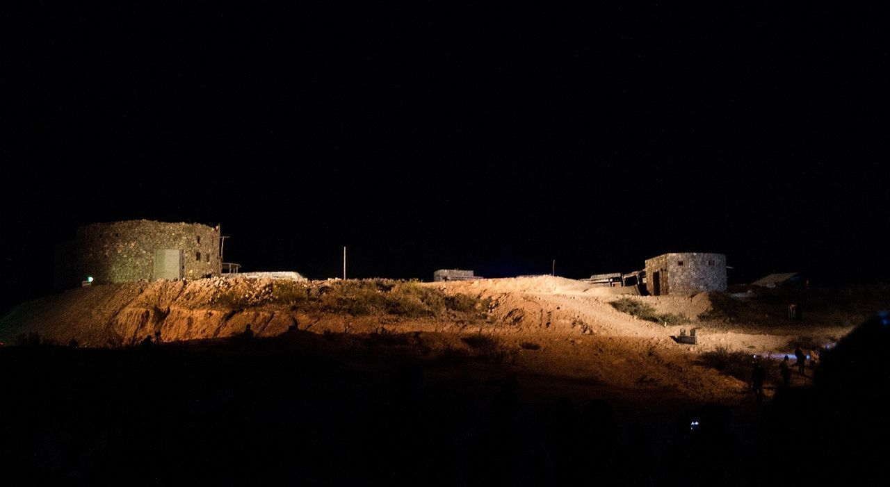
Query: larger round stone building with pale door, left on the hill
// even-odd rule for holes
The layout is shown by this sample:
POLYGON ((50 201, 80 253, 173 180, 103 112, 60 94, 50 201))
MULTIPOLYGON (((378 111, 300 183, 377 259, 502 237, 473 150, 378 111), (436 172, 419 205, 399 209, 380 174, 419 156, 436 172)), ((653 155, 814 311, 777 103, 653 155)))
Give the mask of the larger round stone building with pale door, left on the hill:
POLYGON ((55 287, 220 275, 219 226, 150 220, 93 223, 56 248, 55 287))

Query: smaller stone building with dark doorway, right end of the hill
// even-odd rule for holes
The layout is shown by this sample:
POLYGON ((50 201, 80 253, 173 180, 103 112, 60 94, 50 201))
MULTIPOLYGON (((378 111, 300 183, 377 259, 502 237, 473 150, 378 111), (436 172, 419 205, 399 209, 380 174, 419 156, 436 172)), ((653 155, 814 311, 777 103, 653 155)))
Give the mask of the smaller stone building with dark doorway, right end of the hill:
POLYGON ((646 291, 656 296, 726 291, 726 256, 676 252, 646 259, 646 291))

